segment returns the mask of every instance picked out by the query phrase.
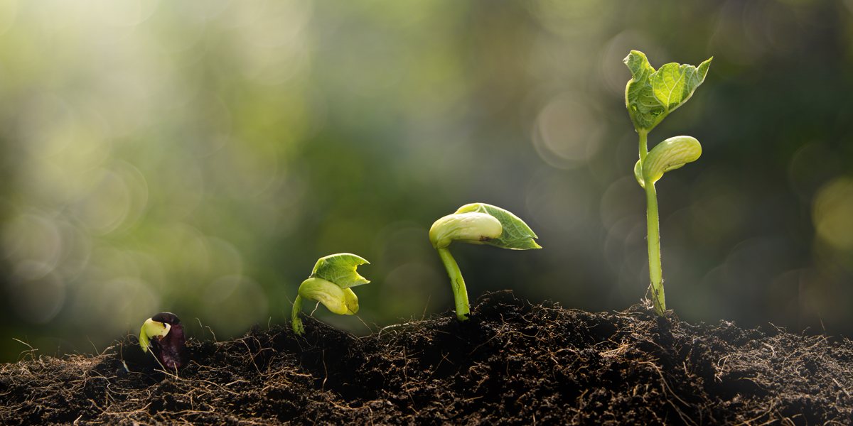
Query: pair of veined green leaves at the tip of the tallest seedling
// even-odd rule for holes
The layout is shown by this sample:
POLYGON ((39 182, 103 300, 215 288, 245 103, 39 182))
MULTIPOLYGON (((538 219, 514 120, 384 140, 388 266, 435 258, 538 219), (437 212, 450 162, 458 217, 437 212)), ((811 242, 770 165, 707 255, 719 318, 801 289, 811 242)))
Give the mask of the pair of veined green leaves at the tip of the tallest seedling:
POLYGON ((705 81, 712 59, 699 66, 671 62, 655 70, 644 53, 631 50, 623 62, 631 72, 625 87, 625 107, 628 107, 634 128, 638 132, 648 132, 687 102, 705 81))

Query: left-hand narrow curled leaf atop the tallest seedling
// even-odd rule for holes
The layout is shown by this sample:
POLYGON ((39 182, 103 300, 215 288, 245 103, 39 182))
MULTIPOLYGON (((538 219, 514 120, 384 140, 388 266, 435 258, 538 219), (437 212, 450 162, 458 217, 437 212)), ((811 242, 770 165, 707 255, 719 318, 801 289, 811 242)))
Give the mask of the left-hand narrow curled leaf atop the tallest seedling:
POLYGON ((663 119, 661 114, 664 113, 649 82, 654 68, 639 50, 631 50, 623 62, 631 72, 631 79, 625 87, 625 107, 636 130, 651 130, 663 119))

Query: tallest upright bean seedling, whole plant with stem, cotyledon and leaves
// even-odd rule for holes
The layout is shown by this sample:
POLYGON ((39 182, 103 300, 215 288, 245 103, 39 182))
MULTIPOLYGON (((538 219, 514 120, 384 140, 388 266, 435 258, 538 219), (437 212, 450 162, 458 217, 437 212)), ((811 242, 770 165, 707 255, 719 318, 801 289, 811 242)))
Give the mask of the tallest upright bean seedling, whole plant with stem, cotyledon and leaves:
POLYGON ((693 91, 705 81, 712 59, 705 60, 699 66, 673 62, 661 66, 659 70, 655 70, 648 63, 646 55, 637 50, 631 50, 623 60, 631 72, 631 79, 625 87, 625 107, 640 136, 640 159, 634 165, 634 176, 646 190, 648 274, 652 282, 652 302, 654 312, 661 316, 666 311, 666 302, 660 266, 658 194, 654 182, 667 171, 696 161, 702 154, 702 147, 693 137, 675 136, 648 151, 647 137, 670 112, 690 99, 693 91))

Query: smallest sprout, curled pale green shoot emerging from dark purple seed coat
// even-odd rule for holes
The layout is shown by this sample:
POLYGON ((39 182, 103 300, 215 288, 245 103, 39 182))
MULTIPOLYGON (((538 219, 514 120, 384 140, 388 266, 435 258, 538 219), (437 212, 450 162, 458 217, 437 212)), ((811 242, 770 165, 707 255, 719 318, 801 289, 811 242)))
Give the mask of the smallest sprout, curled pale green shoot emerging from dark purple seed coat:
POLYGON ((150 348, 154 358, 165 368, 177 370, 187 362, 183 325, 175 314, 162 312, 145 320, 139 331, 139 346, 144 353, 150 348))

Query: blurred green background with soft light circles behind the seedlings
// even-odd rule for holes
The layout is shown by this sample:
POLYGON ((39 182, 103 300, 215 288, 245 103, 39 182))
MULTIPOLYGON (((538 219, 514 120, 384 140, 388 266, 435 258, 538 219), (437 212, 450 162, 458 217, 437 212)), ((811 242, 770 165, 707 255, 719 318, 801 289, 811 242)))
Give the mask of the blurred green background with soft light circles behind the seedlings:
POLYGON ((704 147, 658 183, 668 307, 850 336, 853 1, 7 0, 0 360, 164 310, 203 338, 283 323, 339 251, 373 282, 322 320, 443 312, 427 230, 473 201, 545 248, 454 247, 472 300, 627 308, 648 283, 630 49, 715 57, 649 139, 704 147))

